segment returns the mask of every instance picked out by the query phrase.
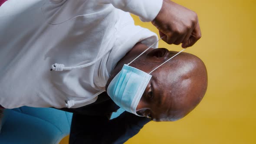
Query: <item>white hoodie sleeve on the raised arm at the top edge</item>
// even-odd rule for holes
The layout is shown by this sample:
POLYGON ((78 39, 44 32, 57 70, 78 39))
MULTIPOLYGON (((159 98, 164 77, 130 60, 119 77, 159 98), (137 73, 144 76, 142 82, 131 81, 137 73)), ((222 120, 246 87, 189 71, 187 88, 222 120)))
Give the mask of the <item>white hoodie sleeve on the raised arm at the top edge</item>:
POLYGON ((115 8, 135 14, 141 21, 154 20, 161 10, 163 0, 99 0, 100 3, 111 3, 115 8))

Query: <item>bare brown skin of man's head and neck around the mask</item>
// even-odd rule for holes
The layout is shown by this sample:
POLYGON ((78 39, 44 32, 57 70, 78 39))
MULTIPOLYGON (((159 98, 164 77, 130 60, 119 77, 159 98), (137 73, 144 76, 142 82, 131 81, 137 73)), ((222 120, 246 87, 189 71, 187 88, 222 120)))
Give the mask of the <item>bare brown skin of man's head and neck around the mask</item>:
MULTIPOLYGON (((148 47, 137 43, 116 65, 106 89, 124 64, 148 47)), ((151 72, 177 52, 165 48, 149 49, 130 66, 151 72)), ((153 121, 176 121, 186 116, 202 100, 207 89, 207 71, 203 62, 185 52, 151 73, 152 78, 136 108, 138 115, 153 121)))

